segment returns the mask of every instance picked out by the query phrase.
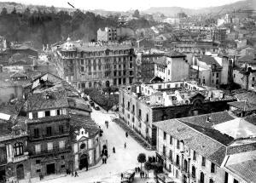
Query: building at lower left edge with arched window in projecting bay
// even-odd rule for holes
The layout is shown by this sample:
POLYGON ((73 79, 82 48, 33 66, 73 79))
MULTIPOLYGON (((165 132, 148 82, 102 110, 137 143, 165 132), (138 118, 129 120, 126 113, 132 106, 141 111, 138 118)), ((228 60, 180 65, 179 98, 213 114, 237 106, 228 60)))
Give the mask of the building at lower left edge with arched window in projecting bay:
POLYGON ((0 107, 0 181, 30 178, 26 117, 17 117, 20 105, 0 107))

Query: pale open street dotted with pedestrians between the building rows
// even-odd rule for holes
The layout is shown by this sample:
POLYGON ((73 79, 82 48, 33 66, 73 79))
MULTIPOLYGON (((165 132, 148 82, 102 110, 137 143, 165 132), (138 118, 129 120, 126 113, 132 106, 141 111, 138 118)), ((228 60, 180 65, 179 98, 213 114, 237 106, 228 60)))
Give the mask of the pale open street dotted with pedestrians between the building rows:
POLYGON ((125 137, 125 131, 121 129, 116 123, 111 122, 111 116, 114 114, 107 114, 101 111, 95 111, 91 113, 91 117, 100 125, 103 129, 102 141, 108 140, 108 157, 107 164, 102 164, 102 161, 96 165, 96 168, 89 169, 89 171, 78 171, 79 177, 72 177, 71 175, 55 178, 51 180, 42 180, 41 182, 116 182, 114 180, 120 180, 120 174, 128 169, 135 169, 136 166, 140 166, 137 162, 137 155, 144 152, 147 157, 154 156, 154 151, 149 152, 140 146, 136 140, 133 140, 130 136, 125 137), (105 126, 105 121, 108 120, 108 129, 105 126), (124 147, 126 142, 126 148, 124 147), (113 153, 112 149, 115 147, 116 153, 113 153))

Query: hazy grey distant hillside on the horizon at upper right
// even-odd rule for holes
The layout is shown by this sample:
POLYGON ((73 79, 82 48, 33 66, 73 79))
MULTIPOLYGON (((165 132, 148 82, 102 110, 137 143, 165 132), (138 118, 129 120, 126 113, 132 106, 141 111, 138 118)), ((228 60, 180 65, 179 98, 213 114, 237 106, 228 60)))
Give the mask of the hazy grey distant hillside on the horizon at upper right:
POLYGON ((165 14, 166 16, 174 16, 179 12, 184 12, 185 14, 213 14, 216 15, 220 11, 222 14, 232 12, 238 9, 252 9, 256 7, 255 0, 243 0, 238 1, 236 3, 225 4, 223 6, 217 7, 209 7, 209 8, 202 8, 202 9, 183 9, 181 7, 152 7, 144 11, 144 13, 154 14, 154 13, 161 13, 165 14))

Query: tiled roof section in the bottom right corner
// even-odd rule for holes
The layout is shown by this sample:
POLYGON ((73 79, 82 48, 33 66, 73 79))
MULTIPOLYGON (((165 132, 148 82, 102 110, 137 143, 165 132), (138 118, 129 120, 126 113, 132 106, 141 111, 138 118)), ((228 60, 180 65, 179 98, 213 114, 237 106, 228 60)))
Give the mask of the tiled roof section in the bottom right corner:
POLYGON ((230 164, 226 168, 247 182, 253 183, 256 181, 256 159, 230 164))

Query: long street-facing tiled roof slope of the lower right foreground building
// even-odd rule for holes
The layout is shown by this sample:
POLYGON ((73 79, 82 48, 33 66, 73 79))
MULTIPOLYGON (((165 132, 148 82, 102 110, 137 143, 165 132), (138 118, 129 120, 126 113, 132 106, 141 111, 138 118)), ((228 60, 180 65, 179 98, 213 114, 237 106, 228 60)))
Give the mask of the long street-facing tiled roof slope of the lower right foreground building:
POLYGON ((167 134, 172 134, 177 140, 183 140, 185 146, 189 146, 212 163, 220 166, 223 162, 226 148, 223 144, 180 122, 178 119, 156 122, 154 125, 167 134))

